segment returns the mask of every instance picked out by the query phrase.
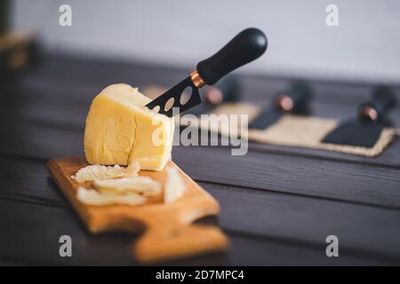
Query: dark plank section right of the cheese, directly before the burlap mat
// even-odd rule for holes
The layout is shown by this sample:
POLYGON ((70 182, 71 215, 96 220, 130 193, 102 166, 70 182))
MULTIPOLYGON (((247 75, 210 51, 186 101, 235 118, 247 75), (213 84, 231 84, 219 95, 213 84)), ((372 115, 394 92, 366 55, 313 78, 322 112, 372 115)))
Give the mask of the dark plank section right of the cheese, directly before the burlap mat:
POLYGON ((172 157, 200 181, 400 209, 399 169, 280 154, 232 156, 212 146, 175 146, 172 157))

